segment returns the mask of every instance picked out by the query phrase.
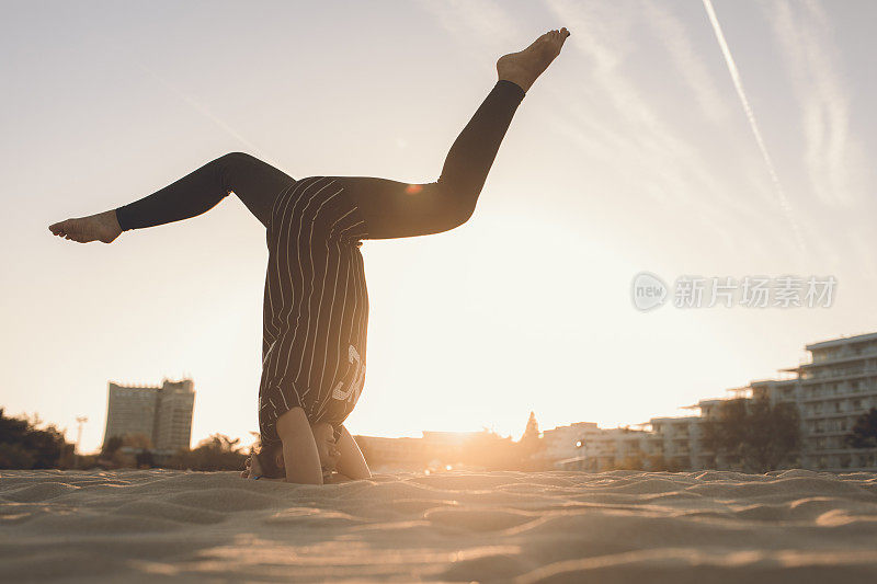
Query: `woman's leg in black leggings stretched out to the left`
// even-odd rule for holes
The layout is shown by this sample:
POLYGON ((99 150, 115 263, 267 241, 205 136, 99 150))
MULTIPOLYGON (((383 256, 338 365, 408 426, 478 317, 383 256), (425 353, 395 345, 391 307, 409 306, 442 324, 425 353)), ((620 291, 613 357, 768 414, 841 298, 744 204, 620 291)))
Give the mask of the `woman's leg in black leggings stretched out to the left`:
POLYGON ((56 236, 79 241, 110 243, 122 231, 189 219, 215 207, 234 192, 265 227, 277 195, 296 181, 266 162, 232 152, 139 201, 89 217, 49 226, 56 236))

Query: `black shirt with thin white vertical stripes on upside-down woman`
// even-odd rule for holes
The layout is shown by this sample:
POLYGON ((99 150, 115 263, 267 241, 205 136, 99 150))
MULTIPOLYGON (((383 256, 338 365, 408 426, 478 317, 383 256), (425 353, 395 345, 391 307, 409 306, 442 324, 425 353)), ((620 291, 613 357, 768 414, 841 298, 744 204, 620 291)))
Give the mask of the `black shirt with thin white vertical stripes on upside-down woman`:
POLYGON ((278 194, 267 228, 259 426, 278 440, 277 417, 299 406, 339 426, 365 375, 366 225, 342 184, 310 176, 278 194))

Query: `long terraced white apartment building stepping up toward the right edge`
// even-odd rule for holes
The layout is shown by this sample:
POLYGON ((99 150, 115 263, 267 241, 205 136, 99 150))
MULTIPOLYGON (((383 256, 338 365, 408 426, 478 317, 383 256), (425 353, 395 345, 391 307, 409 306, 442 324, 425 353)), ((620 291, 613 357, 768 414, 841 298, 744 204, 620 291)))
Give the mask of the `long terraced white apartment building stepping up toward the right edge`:
MULTIPOLYGON (((752 381, 728 391, 733 398, 766 398, 798 409, 801 449, 789 455, 787 466, 877 470, 877 448, 845 444, 856 419, 877 408, 877 333, 813 343, 806 350, 808 360, 781 369, 793 378, 752 381)), ((688 406, 699 415, 652 417, 643 431, 597 428, 592 423, 548 430, 544 435, 551 439, 545 443, 545 457, 560 468, 594 471, 624 466, 631 458, 639 458, 646 469, 659 458, 663 467, 681 470, 737 469, 739 460, 703 445, 703 422, 715 416, 725 401, 705 399, 688 406)))

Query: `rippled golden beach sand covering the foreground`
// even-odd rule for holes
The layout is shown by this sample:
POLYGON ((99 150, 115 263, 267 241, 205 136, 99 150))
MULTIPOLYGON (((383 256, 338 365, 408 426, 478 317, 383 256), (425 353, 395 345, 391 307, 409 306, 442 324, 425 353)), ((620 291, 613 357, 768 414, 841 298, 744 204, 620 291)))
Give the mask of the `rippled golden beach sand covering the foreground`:
POLYGON ((58 582, 874 582, 877 474, 0 471, 0 573, 58 582))

